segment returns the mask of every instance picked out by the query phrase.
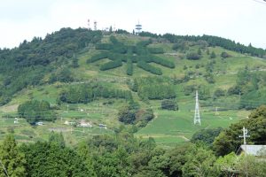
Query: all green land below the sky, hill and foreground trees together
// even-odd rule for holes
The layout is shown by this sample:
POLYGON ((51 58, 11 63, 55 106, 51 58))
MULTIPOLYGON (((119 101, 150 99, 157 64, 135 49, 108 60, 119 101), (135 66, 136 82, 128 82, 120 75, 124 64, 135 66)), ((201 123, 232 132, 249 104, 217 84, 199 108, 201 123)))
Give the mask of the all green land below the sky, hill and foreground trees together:
POLYGON ((217 36, 111 28, 1 49, 0 176, 263 176, 237 137, 265 144, 265 58, 217 36))

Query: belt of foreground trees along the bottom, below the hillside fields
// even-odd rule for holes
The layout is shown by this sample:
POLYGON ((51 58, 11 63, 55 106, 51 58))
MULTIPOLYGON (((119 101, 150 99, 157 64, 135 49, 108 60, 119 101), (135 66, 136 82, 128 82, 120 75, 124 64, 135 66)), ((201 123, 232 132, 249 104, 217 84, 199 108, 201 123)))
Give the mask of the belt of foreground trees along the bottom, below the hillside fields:
POLYGON ((74 148, 54 132, 48 141, 19 145, 10 134, 0 144, 0 176, 265 176, 264 160, 237 154, 242 126, 251 131, 260 127, 248 142, 265 142, 265 115, 261 106, 250 119, 226 129, 200 130, 192 143, 170 150, 156 146, 153 138, 135 138, 134 126, 90 137, 74 148))

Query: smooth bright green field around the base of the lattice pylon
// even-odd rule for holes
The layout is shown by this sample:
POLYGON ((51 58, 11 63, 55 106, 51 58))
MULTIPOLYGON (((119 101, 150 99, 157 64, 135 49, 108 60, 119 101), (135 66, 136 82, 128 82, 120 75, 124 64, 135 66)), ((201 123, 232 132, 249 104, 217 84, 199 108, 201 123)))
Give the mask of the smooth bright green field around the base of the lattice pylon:
POLYGON ((249 112, 226 111, 201 112, 201 126, 193 124, 193 113, 188 111, 156 111, 157 118, 137 132, 138 137, 153 137, 159 144, 173 146, 187 142, 192 135, 202 128, 229 127, 239 119, 246 118, 249 112))

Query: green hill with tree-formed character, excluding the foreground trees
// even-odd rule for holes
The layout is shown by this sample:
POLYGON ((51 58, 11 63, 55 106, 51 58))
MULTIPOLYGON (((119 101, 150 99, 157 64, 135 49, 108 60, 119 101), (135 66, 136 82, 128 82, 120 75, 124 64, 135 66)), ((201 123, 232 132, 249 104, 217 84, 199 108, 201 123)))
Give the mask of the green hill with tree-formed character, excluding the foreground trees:
POLYGON ((208 35, 62 28, 0 50, 0 138, 14 131, 17 140, 36 142, 58 131, 75 144, 126 125, 137 137, 151 136, 161 145, 187 142, 202 128, 229 127, 266 104, 265 54, 208 35), (196 90, 201 126, 192 124, 196 90), (39 103, 30 100, 40 101, 34 112, 39 103), (163 100, 175 107, 161 109, 163 100), (44 125, 32 126, 35 121, 44 125))

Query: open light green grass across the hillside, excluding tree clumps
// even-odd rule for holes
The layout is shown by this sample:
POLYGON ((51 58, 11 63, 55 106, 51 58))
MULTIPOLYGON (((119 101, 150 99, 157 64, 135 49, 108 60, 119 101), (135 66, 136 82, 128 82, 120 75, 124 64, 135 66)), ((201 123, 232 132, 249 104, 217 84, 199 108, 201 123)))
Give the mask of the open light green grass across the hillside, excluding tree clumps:
MULTIPOLYGON (((142 40, 141 37, 132 37, 119 35, 118 38, 121 41, 128 42, 131 44, 142 40)), ((105 37, 103 41, 108 41, 108 37, 105 37)), ((197 73, 205 73, 205 65, 210 61, 205 50, 202 50, 203 58, 199 61, 190 61, 187 59, 182 59, 180 56, 183 53, 171 50, 172 45, 169 43, 155 43, 154 47, 162 47, 166 53, 175 54, 174 56, 169 56, 168 54, 160 55, 161 58, 166 58, 172 60, 176 64, 175 69, 168 69, 160 65, 156 65, 162 69, 163 75, 182 77, 184 73, 188 71, 193 71, 197 73), (195 69, 195 65, 200 65, 200 68, 195 69), (188 66, 187 70, 184 70, 184 65, 188 66)), ((228 89, 234 85, 236 80, 236 73, 239 69, 243 69, 246 65, 249 69, 255 70, 257 68, 266 68, 266 62, 259 58, 251 58, 248 56, 240 55, 236 52, 227 51, 233 56, 232 58, 222 59, 220 54, 224 51, 222 48, 208 48, 210 52, 215 51, 217 58, 215 58, 215 84, 207 84, 202 76, 191 80, 187 83, 176 85, 177 101, 180 108, 178 112, 167 112, 158 109, 160 107, 160 101, 150 101, 150 104, 140 103, 145 107, 152 107, 156 115, 156 118, 151 121, 147 127, 141 129, 137 132, 138 137, 146 138, 148 136, 153 136, 155 141, 163 145, 174 145, 176 143, 186 142, 191 138, 192 134, 199 130, 200 128, 210 128, 210 127, 228 127, 231 123, 238 121, 239 119, 246 118, 248 112, 245 111, 226 111, 219 112, 219 115, 215 115, 212 107, 203 107, 201 112, 202 126, 196 127, 192 124, 193 120, 193 109, 194 109, 194 98, 192 96, 184 96, 184 86, 197 84, 204 85, 210 89, 211 93, 217 88, 228 89)), ((197 47, 192 47, 192 50, 197 50, 197 47)), ((97 50, 87 49, 83 50, 79 54, 79 65, 78 69, 72 69, 74 75, 80 78, 82 81, 90 81, 95 78, 103 84, 109 87, 115 87, 119 89, 128 89, 126 85, 127 79, 133 79, 140 76, 153 75, 147 73, 144 70, 137 68, 134 64, 134 74, 132 77, 126 74, 126 65, 122 67, 115 68, 106 72, 101 72, 98 69, 98 65, 106 62, 107 59, 95 62, 93 64, 86 64, 86 60, 90 58, 97 50)), ((18 104, 30 99, 44 99, 49 101, 51 104, 56 104, 56 97, 59 91, 64 88, 64 84, 53 84, 46 85, 41 88, 29 88, 22 90, 15 98, 12 100, 11 104, 0 108, 0 112, 3 112, 2 119, 0 119, 0 139, 4 136, 4 133, 8 131, 8 127, 13 127, 15 135, 21 142, 31 142, 37 140, 43 140, 48 138, 48 134, 51 130, 62 131, 63 135, 66 137, 66 142, 70 144, 76 143, 78 140, 85 138, 88 135, 98 135, 98 134, 110 134, 113 132, 113 127, 119 126, 119 122, 116 119, 116 113, 118 109, 125 104, 123 100, 113 100, 114 104, 109 106, 104 106, 103 103, 106 99, 99 99, 96 102, 90 104, 79 104, 79 105, 68 105, 68 111, 66 104, 60 106, 60 110, 57 111, 59 118, 55 123, 46 123, 44 126, 40 127, 30 127, 27 122, 20 119, 20 124, 14 124, 13 118, 16 117, 16 107, 18 104), (83 110, 83 112, 81 112, 83 110), (5 116, 7 115, 7 116, 5 116), (7 119, 4 119, 6 117, 7 119), (11 118, 12 117, 12 118, 11 118), (83 129, 80 127, 73 127, 71 133, 71 127, 63 124, 65 120, 74 119, 87 119, 94 124, 92 128, 83 129), (105 123, 107 129, 99 129, 98 124, 105 123)), ((134 98, 138 101, 139 98, 134 94, 134 98)), ((231 106, 233 100, 237 97, 224 97, 219 103, 219 109, 223 107, 231 106)))

